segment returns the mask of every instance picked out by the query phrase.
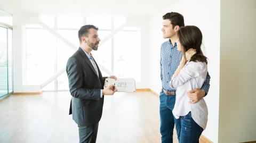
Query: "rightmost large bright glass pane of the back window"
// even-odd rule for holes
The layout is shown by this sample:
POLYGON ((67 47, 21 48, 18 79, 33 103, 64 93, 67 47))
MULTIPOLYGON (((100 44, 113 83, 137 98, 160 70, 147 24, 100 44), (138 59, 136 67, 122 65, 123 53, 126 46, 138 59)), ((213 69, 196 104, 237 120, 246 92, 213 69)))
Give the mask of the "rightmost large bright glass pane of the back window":
POLYGON ((140 82, 140 31, 118 32, 114 40, 115 75, 140 82))

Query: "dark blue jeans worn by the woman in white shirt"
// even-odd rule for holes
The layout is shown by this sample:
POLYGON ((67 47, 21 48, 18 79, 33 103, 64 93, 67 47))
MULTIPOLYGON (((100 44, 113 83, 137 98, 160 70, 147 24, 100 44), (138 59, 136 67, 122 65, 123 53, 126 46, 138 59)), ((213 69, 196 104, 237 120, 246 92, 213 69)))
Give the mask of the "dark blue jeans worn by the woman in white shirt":
POLYGON ((199 143, 199 138, 203 132, 201 128, 191 117, 191 112, 186 116, 180 116, 181 133, 180 143, 199 143))

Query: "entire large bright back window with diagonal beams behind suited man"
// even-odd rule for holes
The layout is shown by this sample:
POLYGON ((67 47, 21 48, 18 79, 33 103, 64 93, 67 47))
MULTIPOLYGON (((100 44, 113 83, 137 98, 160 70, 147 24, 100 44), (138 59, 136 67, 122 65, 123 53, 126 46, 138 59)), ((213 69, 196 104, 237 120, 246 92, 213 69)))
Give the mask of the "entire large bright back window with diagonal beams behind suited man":
MULTIPOLYGON (((77 32, 84 24, 94 24, 99 27, 101 40, 108 38, 105 43, 100 43, 97 52, 92 52, 97 63, 119 78, 133 77, 140 82, 140 29, 136 27, 124 29, 114 37, 108 37, 118 26, 121 26, 123 18, 42 16, 41 21, 77 48, 68 46, 63 39, 39 24, 27 26, 24 85, 41 85, 47 80, 45 77, 50 78, 51 75, 65 68, 68 58, 79 47, 77 32)), ((108 76, 104 71, 102 74, 108 76)), ((66 72, 43 90, 68 90, 66 72)))

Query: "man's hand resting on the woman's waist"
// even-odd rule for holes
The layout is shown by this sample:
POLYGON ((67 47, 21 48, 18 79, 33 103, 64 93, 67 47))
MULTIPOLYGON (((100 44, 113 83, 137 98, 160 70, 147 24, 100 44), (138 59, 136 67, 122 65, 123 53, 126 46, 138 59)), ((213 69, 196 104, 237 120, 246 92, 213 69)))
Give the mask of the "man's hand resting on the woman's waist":
POLYGON ((188 92, 190 103, 195 104, 205 96, 203 89, 193 89, 188 92))

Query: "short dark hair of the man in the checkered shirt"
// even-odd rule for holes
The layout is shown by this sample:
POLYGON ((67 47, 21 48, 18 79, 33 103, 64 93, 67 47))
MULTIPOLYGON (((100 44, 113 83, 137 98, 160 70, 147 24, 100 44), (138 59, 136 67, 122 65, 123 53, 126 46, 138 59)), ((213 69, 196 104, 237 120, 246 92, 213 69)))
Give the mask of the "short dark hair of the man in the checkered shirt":
POLYGON ((166 14, 163 16, 163 20, 165 20, 165 19, 169 19, 169 20, 171 21, 172 29, 173 29, 175 26, 179 26, 179 27, 184 27, 184 26, 185 26, 183 15, 181 15, 181 14, 178 13, 178 12, 169 12, 169 13, 166 13, 166 14))

